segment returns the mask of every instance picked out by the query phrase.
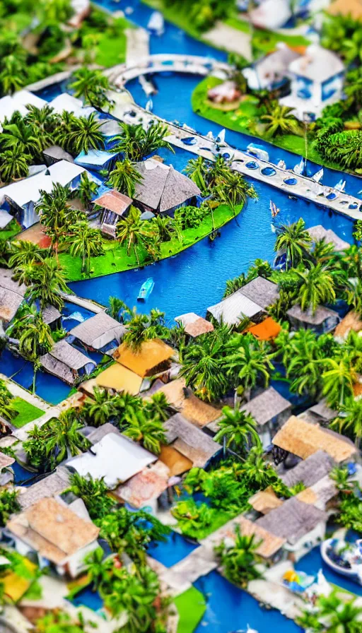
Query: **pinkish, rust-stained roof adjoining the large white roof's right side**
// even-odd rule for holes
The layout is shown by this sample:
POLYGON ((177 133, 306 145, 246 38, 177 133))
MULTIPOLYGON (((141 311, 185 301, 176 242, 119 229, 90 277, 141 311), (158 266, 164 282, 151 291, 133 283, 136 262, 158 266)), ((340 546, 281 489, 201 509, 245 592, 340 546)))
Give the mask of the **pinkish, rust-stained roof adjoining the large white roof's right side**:
POLYGON ((157 499, 161 492, 168 487, 170 470, 162 461, 158 460, 143 469, 137 475, 114 491, 113 495, 123 499, 134 508, 141 508, 157 499))

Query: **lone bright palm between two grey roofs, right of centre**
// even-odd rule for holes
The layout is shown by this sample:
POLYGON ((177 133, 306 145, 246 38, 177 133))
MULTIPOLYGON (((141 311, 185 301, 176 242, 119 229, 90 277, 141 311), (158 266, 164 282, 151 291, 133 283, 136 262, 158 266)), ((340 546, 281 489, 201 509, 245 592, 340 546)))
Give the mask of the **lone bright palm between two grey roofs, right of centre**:
POLYGON ((249 413, 243 410, 231 409, 223 407, 223 418, 218 422, 218 432, 215 436, 215 442, 220 439, 226 439, 226 447, 233 449, 238 453, 245 453, 250 447, 250 439, 254 444, 259 445, 260 439, 257 434, 257 422, 249 413))

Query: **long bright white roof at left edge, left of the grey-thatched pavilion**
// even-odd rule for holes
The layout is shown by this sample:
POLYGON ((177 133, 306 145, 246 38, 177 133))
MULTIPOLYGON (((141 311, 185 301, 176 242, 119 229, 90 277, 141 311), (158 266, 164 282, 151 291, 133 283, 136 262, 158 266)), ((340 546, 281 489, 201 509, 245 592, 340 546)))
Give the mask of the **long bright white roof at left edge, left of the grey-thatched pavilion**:
POLYGON ((7 187, 0 189, 0 202, 5 198, 11 199, 19 207, 23 207, 29 202, 36 203, 40 199, 40 189, 48 193, 52 191, 53 185, 59 182, 63 186, 70 184, 79 174, 86 171, 83 167, 75 165, 68 160, 59 160, 54 165, 47 167, 47 170, 30 176, 18 182, 12 182, 7 187), (49 172, 49 173, 47 173, 49 172))

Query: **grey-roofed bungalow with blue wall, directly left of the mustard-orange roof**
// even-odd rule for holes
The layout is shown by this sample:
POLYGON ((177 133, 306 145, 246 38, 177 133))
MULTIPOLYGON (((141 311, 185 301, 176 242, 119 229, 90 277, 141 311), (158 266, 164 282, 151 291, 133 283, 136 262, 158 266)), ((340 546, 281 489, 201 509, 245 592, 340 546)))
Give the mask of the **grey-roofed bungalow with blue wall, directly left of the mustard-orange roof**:
POLYGON ((105 312, 85 319, 69 331, 69 343, 83 345, 86 350, 112 354, 124 336, 126 328, 105 312))

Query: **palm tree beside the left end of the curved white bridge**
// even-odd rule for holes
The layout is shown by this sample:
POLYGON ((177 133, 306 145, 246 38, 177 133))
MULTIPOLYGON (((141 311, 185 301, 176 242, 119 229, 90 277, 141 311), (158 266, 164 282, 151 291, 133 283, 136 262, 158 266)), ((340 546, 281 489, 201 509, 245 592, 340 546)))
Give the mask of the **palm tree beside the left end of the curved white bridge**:
POLYGON ((108 105, 108 110, 112 107, 112 101, 107 97, 107 91, 111 85, 108 78, 102 71, 80 68, 73 73, 74 81, 69 86, 75 97, 81 97, 86 105, 102 110, 108 105))

